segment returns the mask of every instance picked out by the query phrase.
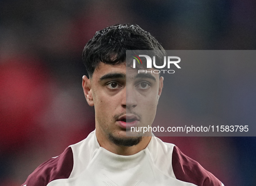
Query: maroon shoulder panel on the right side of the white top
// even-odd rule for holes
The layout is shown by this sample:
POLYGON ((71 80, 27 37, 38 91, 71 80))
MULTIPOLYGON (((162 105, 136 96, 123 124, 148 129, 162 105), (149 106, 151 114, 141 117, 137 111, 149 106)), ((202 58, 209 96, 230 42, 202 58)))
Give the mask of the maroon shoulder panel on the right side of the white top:
POLYGON ((177 146, 172 151, 172 168, 178 180, 197 186, 221 186, 222 183, 197 161, 183 154, 177 146))

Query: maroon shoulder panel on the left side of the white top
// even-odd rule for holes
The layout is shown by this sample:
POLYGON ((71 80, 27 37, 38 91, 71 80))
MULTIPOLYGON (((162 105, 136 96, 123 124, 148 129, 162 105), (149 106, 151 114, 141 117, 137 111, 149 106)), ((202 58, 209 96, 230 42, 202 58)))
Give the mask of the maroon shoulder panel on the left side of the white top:
POLYGON ((72 149, 68 147, 59 156, 37 167, 22 186, 46 186, 53 180, 68 178, 73 169, 73 162, 72 149))

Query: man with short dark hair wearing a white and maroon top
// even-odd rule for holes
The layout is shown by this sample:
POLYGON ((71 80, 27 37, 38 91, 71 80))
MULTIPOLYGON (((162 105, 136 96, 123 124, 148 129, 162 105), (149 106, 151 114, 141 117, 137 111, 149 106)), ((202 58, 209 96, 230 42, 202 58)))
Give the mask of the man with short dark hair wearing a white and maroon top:
POLYGON ((163 88, 159 74, 138 74, 126 64, 126 50, 163 48, 137 25, 96 32, 84 47, 89 78, 82 82, 95 108, 95 130, 41 164, 23 186, 223 185, 175 145, 151 135, 126 135, 131 126, 152 125, 163 88))

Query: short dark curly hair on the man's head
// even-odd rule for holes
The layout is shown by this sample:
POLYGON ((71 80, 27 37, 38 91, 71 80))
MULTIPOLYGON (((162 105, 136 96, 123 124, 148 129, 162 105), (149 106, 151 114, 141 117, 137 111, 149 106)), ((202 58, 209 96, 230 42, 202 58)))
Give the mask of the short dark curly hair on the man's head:
POLYGON ((89 77, 99 62, 119 64, 126 60, 126 50, 164 50, 149 32, 138 25, 113 25, 97 31, 84 47, 83 61, 89 77))

